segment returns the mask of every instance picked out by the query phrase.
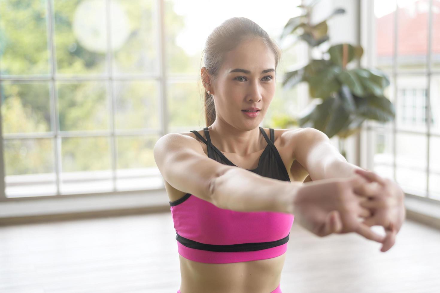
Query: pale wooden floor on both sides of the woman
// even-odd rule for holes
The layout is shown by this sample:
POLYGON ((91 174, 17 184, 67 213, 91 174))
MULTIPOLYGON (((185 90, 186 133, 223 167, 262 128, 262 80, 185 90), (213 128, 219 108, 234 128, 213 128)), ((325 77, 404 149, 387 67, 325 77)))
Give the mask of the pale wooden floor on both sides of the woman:
MULTIPOLYGON (((0 293, 176 293, 175 236, 171 213, 0 227, 0 293)), ((440 292, 440 231, 413 221, 386 253, 297 224, 288 249, 283 293, 440 292)))

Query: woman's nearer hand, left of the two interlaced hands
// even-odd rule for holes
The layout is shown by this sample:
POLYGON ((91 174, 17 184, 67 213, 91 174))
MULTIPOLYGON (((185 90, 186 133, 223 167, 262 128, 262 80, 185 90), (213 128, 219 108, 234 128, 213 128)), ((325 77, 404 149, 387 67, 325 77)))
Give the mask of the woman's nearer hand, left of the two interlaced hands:
POLYGON ((371 217, 370 210, 360 204, 375 192, 374 184, 357 174, 349 178, 307 182, 301 185, 294 199, 293 214, 301 226, 320 237, 356 232, 382 242, 384 236, 374 233, 358 220, 359 217, 371 217))

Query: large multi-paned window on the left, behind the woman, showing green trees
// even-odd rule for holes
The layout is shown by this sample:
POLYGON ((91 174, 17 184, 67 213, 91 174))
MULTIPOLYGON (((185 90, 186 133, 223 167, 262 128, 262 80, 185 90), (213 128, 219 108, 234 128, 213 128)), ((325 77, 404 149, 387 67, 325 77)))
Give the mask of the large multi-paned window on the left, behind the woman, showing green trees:
MULTIPOLYGON (((242 15, 276 40, 300 4, 283 0, 258 14, 226 2, 0 1, 0 200, 163 188, 155 142, 205 127, 206 37, 242 15)), ((307 103, 301 89, 280 86, 306 56, 304 44, 284 51, 265 127, 307 103)))

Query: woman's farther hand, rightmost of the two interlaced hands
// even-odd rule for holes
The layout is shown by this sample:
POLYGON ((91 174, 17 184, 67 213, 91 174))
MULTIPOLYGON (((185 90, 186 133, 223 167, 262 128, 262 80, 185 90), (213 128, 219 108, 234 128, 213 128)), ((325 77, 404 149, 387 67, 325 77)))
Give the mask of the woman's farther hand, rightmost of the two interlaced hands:
POLYGON ((373 215, 367 217, 363 224, 369 227, 381 225, 385 228, 386 235, 381 248, 381 251, 385 252, 394 245, 396 234, 405 220, 406 211, 403 203, 405 193, 396 182, 382 178, 372 171, 356 169, 355 173, 377 184, 376 192, 361 203, 363 207, 374 210, 373 215))

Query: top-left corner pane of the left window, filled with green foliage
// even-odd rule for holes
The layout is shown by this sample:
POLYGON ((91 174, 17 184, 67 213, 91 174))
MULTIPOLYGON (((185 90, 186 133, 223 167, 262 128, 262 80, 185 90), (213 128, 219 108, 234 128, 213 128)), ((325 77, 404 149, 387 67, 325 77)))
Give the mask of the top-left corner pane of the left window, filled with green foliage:
POLYGON ((48 74, 50 71, 47 2, 0 1, 0 74, 48 74))

